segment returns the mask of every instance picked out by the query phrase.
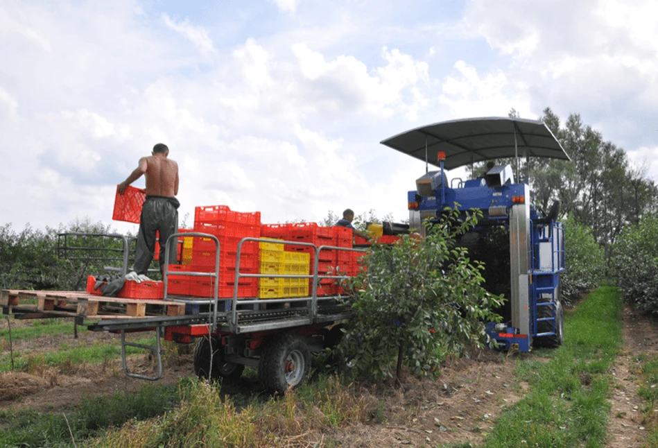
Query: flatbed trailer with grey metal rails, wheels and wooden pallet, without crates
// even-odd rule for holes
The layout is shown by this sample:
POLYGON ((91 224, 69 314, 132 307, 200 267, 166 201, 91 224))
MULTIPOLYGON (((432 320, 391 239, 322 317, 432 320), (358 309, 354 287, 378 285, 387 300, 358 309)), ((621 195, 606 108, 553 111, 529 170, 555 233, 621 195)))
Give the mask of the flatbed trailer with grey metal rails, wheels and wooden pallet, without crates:
MULTIPOLYGON (((161 341, 164 338, 165 341, 176 343, 196 342, 193 363, 199 377, 236 381, 245 365, 252 365, 258 368, 261 383, 270 393, 283 395, 289 387, 302 384, 311 368, 311 353, 321 352, 325 347, 337 343, 340 327, 336 324, 351 316, 344 297, 318 295, 318 285, 323 280, 339 282, 346 277, 343 273, 318 272, 320 254, 323 251, 363 252, 363 249, 243 238, 237 250, 233 296, 220 298, 219 282, 216 281, 222 262, 218 238, 200 232, 173 234, 166 245, 167 257, 171 248, 175 248, 178 239, 183 236, 214 241, 214 272, 180 273, 173 270, 175 265, 166 265, 162 300, 105 297, 80 291, 3 290, 0 306, 4 314, 13 314, 15 318, 73 318, 77 325, 85 325, 91 331, 119 334, 123 372, 129 377, 150 381, 162 377, 161 341), (241 270, 241 255, 243 245, 250 241, 310 248, 315 254, 313 272, 306 275, 244 273, 241 270), (210 278, 214 293, 209 298, 171 295, 167 286, 168 277, 172 274, 210 278), (250 277, 309 279, 312 287, 306 297, 268 300, 239 298, 240 280, 250 277), (36 304, 32 303, 35 301, 36 304), (138 331, 153 331, 155 345, 128 341, 126 335, 138 331), (152 354, 157 372, 153 375, 132 372, 126 357, 127 347, 137 347, 152 354)), ((123 246, 121 259, 128 260, 130 243, 127 239, 123 239, 123 246)), ((125 275, 127 266, 123 263, 119 268, 112 269, 125 275)))

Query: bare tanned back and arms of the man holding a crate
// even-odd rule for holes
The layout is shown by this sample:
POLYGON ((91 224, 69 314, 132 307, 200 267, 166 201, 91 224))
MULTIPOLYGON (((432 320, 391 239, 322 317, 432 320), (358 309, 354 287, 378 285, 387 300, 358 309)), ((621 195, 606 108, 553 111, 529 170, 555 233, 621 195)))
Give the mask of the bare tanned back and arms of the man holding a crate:
POLYGON ((128 179, 119 184, 119 193, 123 194, 128 185, 146 175, 146 196, 164 196, 173 198, 178 194, 178 164, 167 158, 169 151, 156 153, 139 159, 137 168, 128 179))

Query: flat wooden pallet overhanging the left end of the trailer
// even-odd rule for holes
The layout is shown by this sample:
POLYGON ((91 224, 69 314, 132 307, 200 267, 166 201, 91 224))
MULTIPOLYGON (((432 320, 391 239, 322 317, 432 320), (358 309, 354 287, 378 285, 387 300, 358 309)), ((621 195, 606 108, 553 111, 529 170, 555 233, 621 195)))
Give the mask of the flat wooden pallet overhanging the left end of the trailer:
POLYGON ((53 317, 96 318, 141 318, 147 315, 182 316, 185 304, 165 300, 142 300, 105 297, 80 291, 17 291, 3 290, 0 306, 15 308, 15 311, 31 310, 52 312, 53 317), (37 301, 36 307, 24 304, 37 301), (21 304, 21 302, 23 302, 21 304), (62 316, 62 313, 65 313, 62 316))

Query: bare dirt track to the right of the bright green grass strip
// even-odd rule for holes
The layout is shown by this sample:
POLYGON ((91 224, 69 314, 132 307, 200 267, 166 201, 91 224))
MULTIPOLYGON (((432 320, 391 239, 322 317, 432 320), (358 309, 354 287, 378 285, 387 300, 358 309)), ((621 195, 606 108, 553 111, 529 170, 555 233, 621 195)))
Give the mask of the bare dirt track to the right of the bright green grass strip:
POLYGON ((608 425, 608 446, 611 448, 646 446, 644 416, 641 413, 644 404, 637 395, 640 386, 637 356, 658 353, 658 324, 642 313, 625 307, 623 336, 623 352, 612 367, 615 385, 610 399, 612 410, 608 425))

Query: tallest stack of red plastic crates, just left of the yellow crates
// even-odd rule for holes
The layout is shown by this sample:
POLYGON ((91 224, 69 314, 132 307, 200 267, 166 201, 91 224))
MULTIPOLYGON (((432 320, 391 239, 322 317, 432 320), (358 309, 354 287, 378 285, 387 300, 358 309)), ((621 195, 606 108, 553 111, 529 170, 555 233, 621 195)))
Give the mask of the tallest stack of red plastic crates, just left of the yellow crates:
MULTIPOLYGON (((196 207, 194 231, 216 236, 220 244, 218 297, 230 298, 234 294, 238 245, 245 237, 260 238, 260 212, 234 212, 227 205, 196 207)), ((192 243, 192 272, 214 272, 216 244, 214 239, 195 237, 192 243)), ((243 243, 240 251, 240 273, 255 274, 259 268, 259 247, 254 241, 243 243)), ((212 297, 214 282, 211 277, 193 277, 190 295, 212 297)), ((241 278, 237 297, 256 297, 257 279, 241 278)))

